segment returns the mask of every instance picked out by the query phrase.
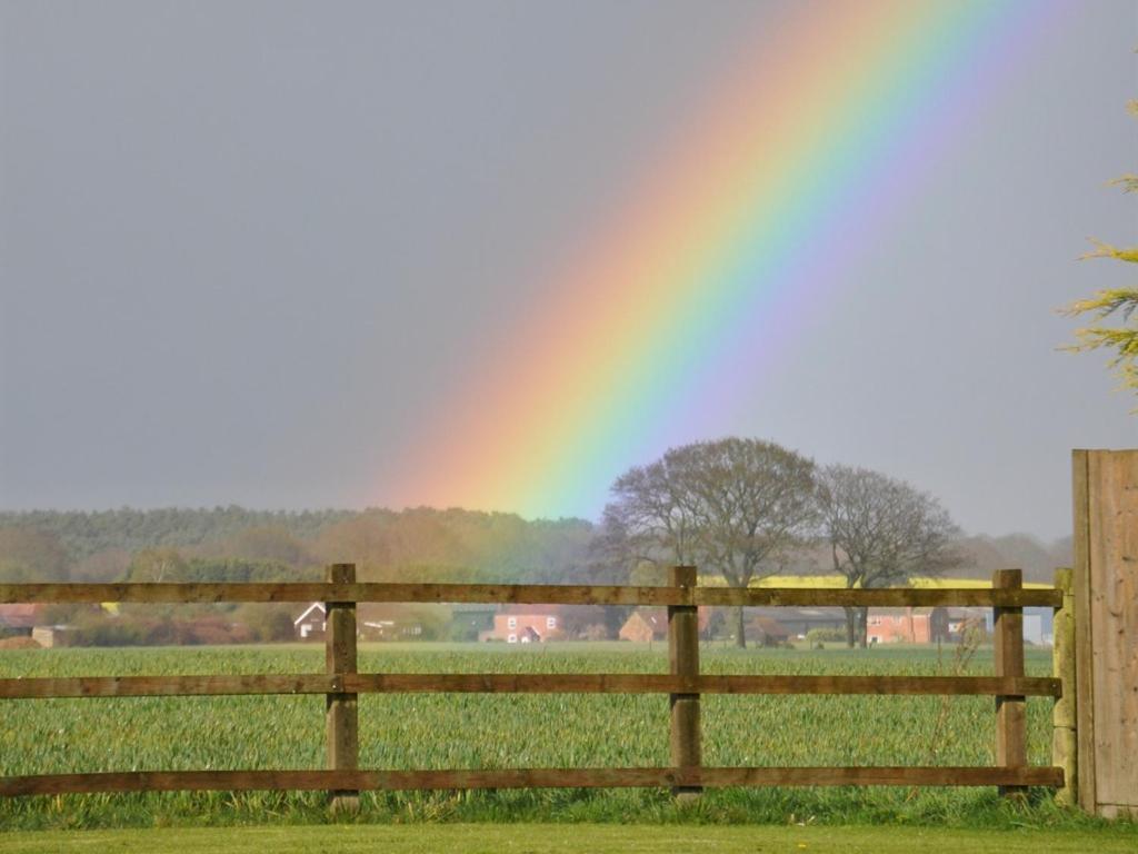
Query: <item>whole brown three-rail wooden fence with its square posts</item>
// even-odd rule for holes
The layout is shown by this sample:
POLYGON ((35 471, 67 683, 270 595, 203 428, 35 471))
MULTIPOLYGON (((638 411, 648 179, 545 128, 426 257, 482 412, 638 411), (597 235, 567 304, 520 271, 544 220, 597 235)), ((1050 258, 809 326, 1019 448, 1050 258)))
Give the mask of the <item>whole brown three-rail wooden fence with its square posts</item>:
MULTIPOLYGON (((297 675, 92 676, 0 679, 0 698, 166 697, 200 695, 325 696, 325 770, 131 771, 0 777, 0 795, 170 791, 184 789, 318 789, 351 807, 368 789, 530 787, 669 787, 693 795, 723 786, 1028 786, 1062 788, 1064 767, 1031 766, 1026 697, 1067 696, 1073 668, 1058 678, 1028 678, 1023 668, 1023 608, 1064 608, 1061 589, 1025 590, 1019 569, 997 572, 989 589, 729 589, 700 588, 694 567, 671 569, 668 586, 500 584, 364 584, 355 567, 328 568, 324 583, 283 584, 0 584, 0 602, 310 602, 327 607, 324 673, 297 675), (360 673, 357 602, 488 602, 667 606, 670 672, 666 674, 409 674, 360 673), (710 675, 700 672, 699 606, 987 606, 995 609, 995 675, 710 675), (495 769, 387 771, 358 767, 361 693, 667 693, 669 767, 495 769), (991 695, 996 698, 996 765, 860 767, 709 767, 700 746, 700 698, 734 695, 991 695)), ((1066 600, 1070 610, 1070 598, 1066 600)), ((1064 644, 1063 656, 1073 656, 1064 644)), ((1058 739, 1056 739, 1058 744, 1058 739)))

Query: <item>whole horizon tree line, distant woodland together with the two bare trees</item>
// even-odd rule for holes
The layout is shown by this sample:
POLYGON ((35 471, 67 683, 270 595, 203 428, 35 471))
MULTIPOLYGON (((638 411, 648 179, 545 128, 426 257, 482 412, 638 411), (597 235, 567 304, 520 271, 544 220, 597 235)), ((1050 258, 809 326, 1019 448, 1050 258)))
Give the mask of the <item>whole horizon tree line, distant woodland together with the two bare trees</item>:
MULTIPOLYGON (((365 581, 659 584, 668 565, 694 564, 735 586, 787 573, 873 588, 1006 566, 1049 578, 1069 549, 963 537, 909 484, 754 438, 694 443, 630 468, 597 524, 431 508, 0 514, 8 582, 307 581, 351 561, 365 581)), ((265 637, 283 631, 274 621, 265 637)), ((732 634, 745 643, 741 610, 732 634)), ((849 609, 848 641, 865 634, 865 613, 849 609)))

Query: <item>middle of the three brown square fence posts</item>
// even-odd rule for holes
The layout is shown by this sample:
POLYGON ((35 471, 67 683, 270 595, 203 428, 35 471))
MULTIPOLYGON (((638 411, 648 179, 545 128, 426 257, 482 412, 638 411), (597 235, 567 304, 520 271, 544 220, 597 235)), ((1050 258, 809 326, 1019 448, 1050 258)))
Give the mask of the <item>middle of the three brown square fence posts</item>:
MULTIPOLYGON (((674 566, 668 573, 674 588, 694 590, 694 566, 674 566)), ((668 659, 671 675, 691 680, 700 675, 700 617, 694 605, 668 606, 668 659)), ((700 695, 673 693, 671 706, 671 766, 678 770, 699 770, 702 765, 700 746, 700 695)), ((682 800, 693 800, 703 791, 702 786, 674 786, 671 794, 682 800)))

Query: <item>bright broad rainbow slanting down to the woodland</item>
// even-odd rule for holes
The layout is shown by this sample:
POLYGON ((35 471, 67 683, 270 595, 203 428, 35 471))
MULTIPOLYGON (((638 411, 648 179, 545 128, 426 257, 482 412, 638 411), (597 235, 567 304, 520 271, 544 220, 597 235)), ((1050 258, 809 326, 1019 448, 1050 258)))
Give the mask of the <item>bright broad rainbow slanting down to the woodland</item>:
MULTIPOLYGON (((739 424, 745 377, 968 130, 1055 2, 803 2, 760 34, 530 320, 473 360, 389 503, 593 516, 739 424)), ((737 426, 736 426, 737 429, 737 426)))

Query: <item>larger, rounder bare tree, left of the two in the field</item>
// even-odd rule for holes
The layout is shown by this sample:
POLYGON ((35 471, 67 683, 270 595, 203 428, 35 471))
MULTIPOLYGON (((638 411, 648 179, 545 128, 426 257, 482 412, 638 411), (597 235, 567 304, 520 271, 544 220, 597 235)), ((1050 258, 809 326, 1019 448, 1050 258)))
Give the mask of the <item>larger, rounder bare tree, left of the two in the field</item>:
MULTIPOLYGON (((695 564, 745 588, 815 522, 814 462, 772 442, 725 438, 669 450, 621 475, 605 525, 640 560, 695 564)), ((743 609, 735 642, 747 643, 743 609)))

